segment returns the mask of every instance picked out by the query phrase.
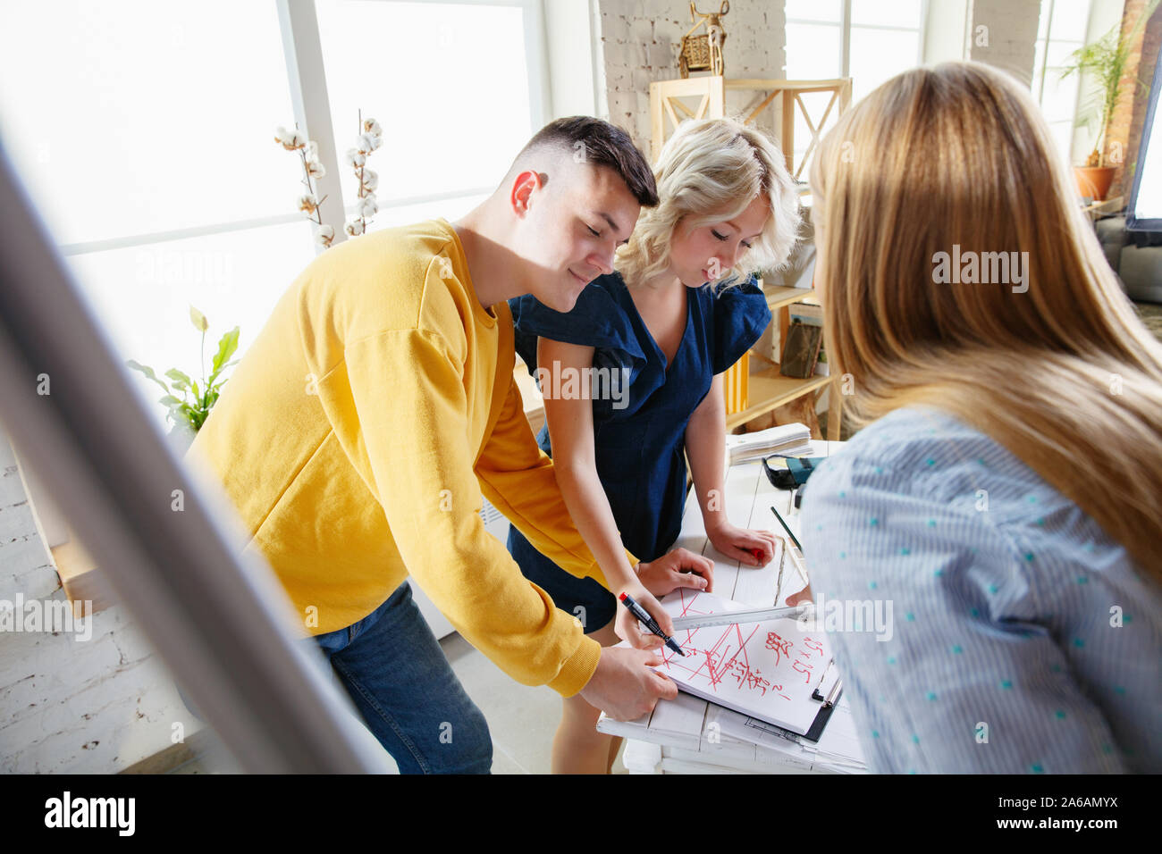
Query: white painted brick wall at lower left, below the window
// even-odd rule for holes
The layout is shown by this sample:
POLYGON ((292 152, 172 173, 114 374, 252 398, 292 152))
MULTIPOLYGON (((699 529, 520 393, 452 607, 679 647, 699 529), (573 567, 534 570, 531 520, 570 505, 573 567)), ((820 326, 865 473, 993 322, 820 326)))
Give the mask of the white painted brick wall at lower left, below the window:
MULTIPOLYGON (((66 601, 16 460, 0 433, 0 598, 66 601)), ((120 607, 92 637, 0 632, 0 773, 119 772, 202 729, 149 641, 120 607)))

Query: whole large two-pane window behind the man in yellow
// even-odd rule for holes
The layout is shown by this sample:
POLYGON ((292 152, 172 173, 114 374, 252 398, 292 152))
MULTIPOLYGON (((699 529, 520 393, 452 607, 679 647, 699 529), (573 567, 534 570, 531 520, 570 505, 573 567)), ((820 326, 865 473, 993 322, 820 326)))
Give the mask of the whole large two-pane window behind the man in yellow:
MULTIPOLYGON (((338 160, 324 165, 342 196, 324 208, 354 207, 342 157, 359 110, 383 128, 370 159, 372 230, 459 216, 544 119, 539 0, 317 0, 316 50, 289 52, 286 9, 286 0, 5 7, 0 139, 124 359, 198 369, 189 304, 209 317, 210 356, 234 325, 244 352, 315 257, 295 210, 299 155, 274 142, 303 102, 288 55, 307 86, 327 81, 338 160)), ((150 400, 160 395, 131 376, 150 400)))

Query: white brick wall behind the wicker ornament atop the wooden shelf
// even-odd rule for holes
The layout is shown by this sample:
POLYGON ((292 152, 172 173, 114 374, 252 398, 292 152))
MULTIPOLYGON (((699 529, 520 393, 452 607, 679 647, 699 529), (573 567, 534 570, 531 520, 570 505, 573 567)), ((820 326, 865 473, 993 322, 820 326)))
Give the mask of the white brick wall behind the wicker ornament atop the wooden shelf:
MULTIPOLYGON (((700 12, 717 9, 718 0, 700 0, 700 12)), ((597 0, 602 66, 608 114, 650 152, 650 82, 681 77, 677 52, 690 28, 690 7, 679 0, 597 0)), ((727 78, 783 77, 786 16, 781 0, 733 0, 723 19, 727 78)), ((727 114, 754 99, 729 93, 727 114)), ((768 114, 769 115, 769 114, 768 114)), ((777 137, 773 119, 759 122, 777 137)))

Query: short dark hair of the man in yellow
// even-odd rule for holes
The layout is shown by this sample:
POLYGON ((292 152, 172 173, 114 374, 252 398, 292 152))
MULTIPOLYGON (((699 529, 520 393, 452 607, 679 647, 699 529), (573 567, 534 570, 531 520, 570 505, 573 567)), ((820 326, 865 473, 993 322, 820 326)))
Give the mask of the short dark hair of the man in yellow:
POLYGON ((569 116, 552 121, 521 149, 514 166, 521 164, 526 155, 547 148, 574 155, 582 152, 584 163, 605 166, 621 175, 638 204, 644 208, 658 204, 658 185, 654 184, 653 170, 630 135, 616 124, 593 116, 569 116))

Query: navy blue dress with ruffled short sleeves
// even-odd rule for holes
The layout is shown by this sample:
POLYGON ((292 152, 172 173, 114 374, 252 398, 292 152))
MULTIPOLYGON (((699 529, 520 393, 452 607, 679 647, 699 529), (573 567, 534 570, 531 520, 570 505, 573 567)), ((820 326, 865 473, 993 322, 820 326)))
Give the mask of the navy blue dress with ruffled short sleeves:
MULTIPOLYGON (((539 336, 591 346, 595 368, 627 374, 627 390, 593 401, 597 475, 625 547, 639 560, 661 557, 682 525, 686 425, 715 374, 738 361, 770 322, 762 290, 753 279, 717 290, 710 285, 688 288, 686 330, 668 373, 665 353, 616 272, 591 281, 567 314, 531 295, 509 300, 509 307, 516 350, 530 374, 537 367, 539 336)), ((547 423, 537 444, 552 457, 547 423)), ((511 526, 508 548, 524 575, 558 608, 582 617, 587 632, 614 618, 612 594, 593 579, 561 569, 511 526), (584 610, 578 611, 579 605, 584 610)))

